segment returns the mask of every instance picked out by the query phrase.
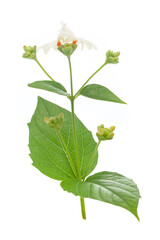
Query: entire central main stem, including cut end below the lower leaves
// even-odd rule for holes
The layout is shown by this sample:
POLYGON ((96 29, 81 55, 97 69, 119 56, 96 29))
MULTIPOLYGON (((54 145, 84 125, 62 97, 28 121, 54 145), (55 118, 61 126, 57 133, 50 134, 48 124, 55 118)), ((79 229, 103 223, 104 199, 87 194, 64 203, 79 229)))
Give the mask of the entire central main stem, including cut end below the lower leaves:
MULTIPOLYGON (((70 57, 68 57, 68 62, 69 62, 70 83, 71 83, 71 97, 70 97, 70 100, 71 100, 71 111, 72 111, 73 138, 74 138, 74 145, 75 145, 75 152, 76 152, 78 177, 79 177, 79 180, 81 181, 82 177, 81 177, 80 161, 79 161, 79 155, 78 155, 78 145, 77 145, 77 136, 76 136, 76 124, 75 124, 75 115, 74 115, 74 99, 75 98, 73 96, 72 67, 71 67, 70 57)), ((81 203, 82 218, 86 219, 84 198, 80 197, 80 203, 81 203)))

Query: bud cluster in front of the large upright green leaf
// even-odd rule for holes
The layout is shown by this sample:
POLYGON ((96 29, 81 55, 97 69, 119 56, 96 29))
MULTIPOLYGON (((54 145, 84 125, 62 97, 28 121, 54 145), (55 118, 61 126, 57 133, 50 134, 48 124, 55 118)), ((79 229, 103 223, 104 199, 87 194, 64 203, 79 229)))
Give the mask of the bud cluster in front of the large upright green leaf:
POLYGON ((64 114, 60 113, 58 116, 54 116, 54 117, 45 117, 44 118, 45 123, 47 123, 47 125, 55 130, 60 130, 62 127, 62 124, 64 122, 64 114))

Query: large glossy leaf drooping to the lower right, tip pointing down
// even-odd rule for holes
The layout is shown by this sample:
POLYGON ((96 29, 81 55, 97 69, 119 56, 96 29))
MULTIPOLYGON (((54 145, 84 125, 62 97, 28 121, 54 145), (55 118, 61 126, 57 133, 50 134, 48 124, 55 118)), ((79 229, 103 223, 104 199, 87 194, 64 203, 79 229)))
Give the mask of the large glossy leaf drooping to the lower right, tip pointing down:
POLYGON ((80 182, 71 179, 61 182, 61 187, 74 195, 111 203, 127 209, 139 220, 137 214, 140 198, 137 185, 129 178, 115 172, 100 172, 80 182))

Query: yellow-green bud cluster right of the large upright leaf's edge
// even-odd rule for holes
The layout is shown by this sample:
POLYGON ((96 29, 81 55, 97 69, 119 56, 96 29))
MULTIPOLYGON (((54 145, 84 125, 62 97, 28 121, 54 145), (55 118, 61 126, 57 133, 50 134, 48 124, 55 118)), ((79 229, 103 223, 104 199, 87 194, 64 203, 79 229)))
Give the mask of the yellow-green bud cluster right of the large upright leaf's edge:
POLYGON ((97 129, 98 129, 98 132, 96 133, 96 135, 100 141, 110 140, 114 136, 113 131, 115 130, 115 126, 112 126, 110 128, 105 128, 104 125, 101 124, 100 126, 98 126, 97 129))

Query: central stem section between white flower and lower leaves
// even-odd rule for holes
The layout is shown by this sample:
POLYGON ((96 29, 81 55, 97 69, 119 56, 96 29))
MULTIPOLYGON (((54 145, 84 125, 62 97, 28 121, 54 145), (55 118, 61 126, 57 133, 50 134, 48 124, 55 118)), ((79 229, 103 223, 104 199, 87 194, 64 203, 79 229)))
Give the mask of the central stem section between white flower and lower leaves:
POLYGON ((72 82, 72 67, 70 57, 68 57, 69 61, 69 70, 70 70, 70 83, 71 83, 71 111, 72 111, 72 127, 73 127, 73 138, 74 138, 74 145, 75 145, 75 152, 76 152, 76 160, 77 160, 77 169, 78 169, 78 177, 81 180, 81 170, 80 170, 80 162, 79 162, 79 155, 78 155, 78 145, 77 145, 77 137, 76 137, 76 124, 75 124, 75 114, 74 114, 74 97, 73 97, 73 82, 72 82))

